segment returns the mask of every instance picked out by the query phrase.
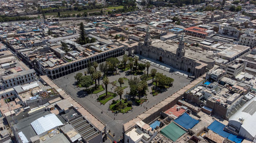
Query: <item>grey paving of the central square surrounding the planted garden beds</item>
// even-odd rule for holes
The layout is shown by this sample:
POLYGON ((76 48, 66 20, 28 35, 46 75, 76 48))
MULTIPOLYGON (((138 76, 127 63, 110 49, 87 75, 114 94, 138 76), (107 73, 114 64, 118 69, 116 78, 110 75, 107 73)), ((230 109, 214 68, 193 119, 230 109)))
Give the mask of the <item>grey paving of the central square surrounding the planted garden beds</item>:
MULTIPOLYGON (((141 57, 141 59, 144 59, 141 57)), ((118 57, 118 60, 122 60, 122 56, 118 57)), ((148 59, 150 60, 150 59, 148 59)), ((141 61, 145 60, 140 60, 138 63, 143 63, 141 61)), ((157 61, 152 60, 151 61, 151 66, 149 68, 149 71, 151 69, 156 69, 157 72, 163 73, 164 75, 171 77, 174 79, 173 82, 173 87, 168 88, 165 92, 159 93, 157 96, 153 96, 152 93, 152 79, 147 80, 148 83, 148 90, 146 91, 146 99, 147 101, 142 103, 141 105, 133 105, 132 110, 130 110, 127 113, 113 113, 111 110, 109 110, 109 106, 112 103, 112 100, 118 100, 119 96, 116 96, 115 98, 111 99, 110 101, 106 102, 104 105, 100 104, 100 102, 97 101, 97 98, 104 94, 105 91, 101 91, 97 94, 86 94, 83 90, 86 88, 78 88, 75 84, 76 79, 74 76, 77 73, 84 73, 87 69, 83 69, 71 74, 68 74, 66 76, 57 78, 53 80, 56 84, 59 85, 62 89, 65 89, 65 91, 70 94, 77 102, 79 102, 82 106, 84 106, 88 111, 94 114, 101 122, 103 122, 108 129, 111 129, 111 133, 115 133, 117 137, 122 135, 122 124, 126 123, 147 109, 150 109, 157 103, 161 102, 162 100, 166 99, 170 95, 176 93, 179 91, 181 88, 185 87, 190 81, 190 78, 187 78, 186 73, 182 74, 181 71, 177 71, 176 69, 170 70, 173 72, 169 72, 165 69, 172 68, 172 67, 160 67, 158 68, 157 66, 154 66, 157 61)), ((166 65, 167 66, 167 65, 166 65)), ((97 68, 98 70, 98 68, 97 68)), ((135 75, 129 74, 130 70, 127 71, 122 71, 118 69, 118 75, 111 75, 108 76, 110 83, 108 84, 108 92, 114 93, 115 86, 112 85, 111 83, 114 81, 117 81, 119 77, 125 77, 127 79, 130 79, 132 77, 135 77, 135 75)), ((141 75, 136 75, 137 77, 140 77, 141 75)), ((118 83, 118 82, 117 82, 118 83)), ((100 84, 102 84, 102 78, 100 79, 100 84)), ((91 85, 90 88, 94 87, 95 85, 91 85)), ((104 86, 104 85, 103 85, 104 86)), ((125 85, 126 86, 126 85, 125 85)), ((128 86, 127 88, 124 89, 122 98, 129 98, 130 95, 128 93, 130 92, 130 87, 128 86)), ((145 98, 145 96, 143 97, 145 98)))

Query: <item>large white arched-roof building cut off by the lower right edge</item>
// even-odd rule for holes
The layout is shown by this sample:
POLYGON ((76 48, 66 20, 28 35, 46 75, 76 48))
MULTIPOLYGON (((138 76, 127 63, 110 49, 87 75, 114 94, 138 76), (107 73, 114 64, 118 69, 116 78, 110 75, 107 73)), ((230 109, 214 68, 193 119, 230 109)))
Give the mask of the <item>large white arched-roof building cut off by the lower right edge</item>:
POLYGON ((239 135, 256 141, 256 97, 244 104, 228 120, 228 127, 236 128, 239 135))

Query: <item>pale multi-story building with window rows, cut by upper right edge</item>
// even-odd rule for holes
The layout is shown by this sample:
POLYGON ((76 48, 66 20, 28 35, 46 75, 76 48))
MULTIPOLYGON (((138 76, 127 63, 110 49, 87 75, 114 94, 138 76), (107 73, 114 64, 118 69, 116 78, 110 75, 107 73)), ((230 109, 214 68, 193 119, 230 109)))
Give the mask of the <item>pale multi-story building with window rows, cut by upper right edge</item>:
POLYGON ((248 29, 239 38, 239 45, 249 46, 253 48, 256 45, 256 37, 254 29, 248 29))

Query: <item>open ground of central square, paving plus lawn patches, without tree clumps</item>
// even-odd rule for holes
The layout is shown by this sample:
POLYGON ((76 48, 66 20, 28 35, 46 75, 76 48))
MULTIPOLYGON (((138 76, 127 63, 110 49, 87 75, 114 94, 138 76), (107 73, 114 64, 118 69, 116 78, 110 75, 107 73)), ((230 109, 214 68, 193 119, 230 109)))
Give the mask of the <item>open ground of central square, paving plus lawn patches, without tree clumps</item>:
MULTIPOLYGON (((119 56, 118 60, 122 61, 123 56, 119 56)), ((129 62, 127 62, 129 63, 129 62)), ((143 60, 138 61, 139 64, 145 64, 143 60)), ((126 67, 129 67, 129 64, 126 65, 126 67)), ((99 80, 100 87, 99 90, 93 90, 93 92, 85 92, 85 90, 93 89, 95 87, 95 84, 92 84, 89 88, 79 88, 76 85, 77 80, 74 78, 74 76, 77 73, 84 73, 84 71, 88 71, 87 69, 83 69, 74 73, 71 73, 69 75, 60 77, 58 79, 55 79, 54 82, 58 84, 63 90, 65 90, 68 94, 70 94, 77 102, 79 102, 81 105, 83 105, 88 111, 93 113, 100 121, 102 121, 105 125, 108 126, 109 129, 112 130, 112 133, 115 133, 117 137, 119 137, 122 132, 122 124, 126 123, 127 121, 132 120, 136 116, 140 115, 147 109, 150 109, 157 103, 161 102, 162 100, 166 99, 170 95, 176 93, 181 88, 185 87, 190 81, 190 78, 187 78, 187 76, 183 76, 182 74, 176 73, 176 72, 169 72, 164 70, 163 68, 159 68, 157 66, 154 66, 152 64, 148 71, 150 74, 150 71, 152 69, 156 69, 158 73, 161 73, 163 75, 166 75, 167 77, 170 77, 174 79, 172 87, 164 89, 163 92, 159 92, 157 95, 153 95, 152 89, 154 90, 154 83, 152 84, 152 78, 149 77, 146 80, 146 83, 148 85, 148 88, 146 90, 145 95, 141 96, 141 99, 139 100, 138 97, 136 97, 135 102, 133 102, 131 108, 125 108, 125 111, 116 112, 111 111, 110 108, 112 108, 114 105, 112 103, 118 103, 120 102, 119 95, 111 95, 110 99, 104 100, 100 102, 99 100, 100 96, 104 96, 105 85, 102 82, 102 77, 99 80), (102 90, 102 89, 103 90, 102 90), (136 104, 137 102, 137 104, 136 104), (103 104, 104 103, 104 104, 103 104), (127 111, 127 112, 126 112, 127 111), (126 112, 126 113, 123 113, 126 112)), ((97 71, 99 71, 99 66, 97 67, 97 71)), ((175 71, 175 69, 173 70, 175 71)), ((145 68, 144 73, 147 73, 147 69, 145 68)), ((124 101, 124 99, 131 99, 130 93, 130 87, 128 80, 134 77, 140 78, 144 73, 142 74, 131 74, 130 69, 127 69, 125 71, 121 69, 117 69, 117 75, 107 75, 109 79, 109 84, 107 87, 108 93, 114 94, 116 87, 119 87, 118 79, 124 78, 124 82, 122 84, 123 94, 122 94, 122 102, 127 105, 128 101, 124 101)), ((98 81, 97 81, 98 84, 98 81)))

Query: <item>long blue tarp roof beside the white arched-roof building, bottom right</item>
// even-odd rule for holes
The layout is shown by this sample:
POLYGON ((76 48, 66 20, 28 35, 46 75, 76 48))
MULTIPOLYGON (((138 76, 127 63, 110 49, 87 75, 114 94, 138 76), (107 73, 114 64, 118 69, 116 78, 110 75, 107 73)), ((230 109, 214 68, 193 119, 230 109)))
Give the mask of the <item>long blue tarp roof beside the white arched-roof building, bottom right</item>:
POLYGON ((224 127, 225 125, 218 122, 218 121, 214 121, 210 124, 210 126, 208 126, 208 129, 214 131, 215 133, 219 134, 222 137, 228 138, 231 141, 234 141, 236 143, 241 143, 243 141, 243 137, 241 136, 236 136, 234 134, 228 133, 226 131, 224 131, 224 127))

